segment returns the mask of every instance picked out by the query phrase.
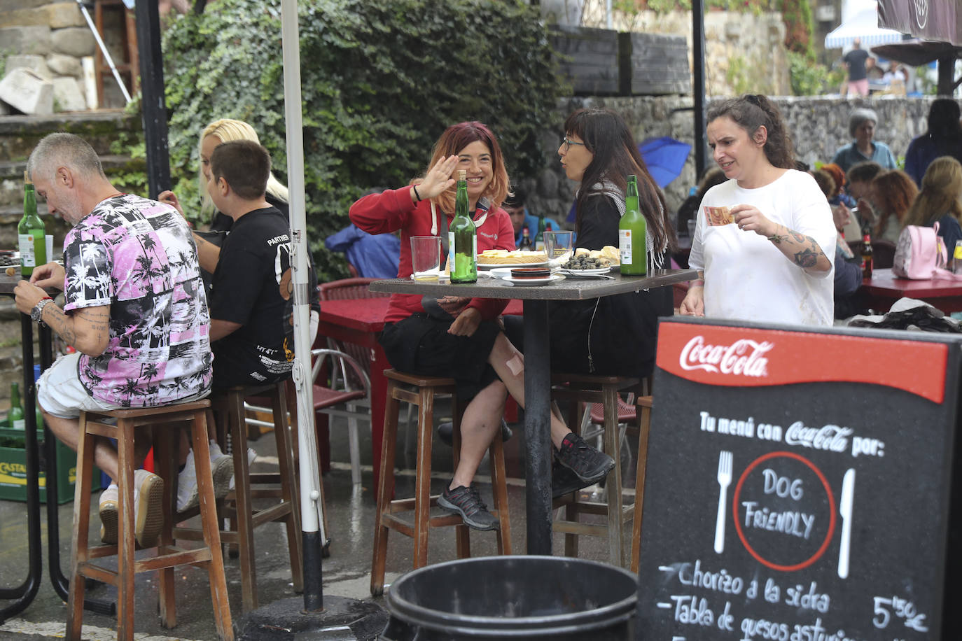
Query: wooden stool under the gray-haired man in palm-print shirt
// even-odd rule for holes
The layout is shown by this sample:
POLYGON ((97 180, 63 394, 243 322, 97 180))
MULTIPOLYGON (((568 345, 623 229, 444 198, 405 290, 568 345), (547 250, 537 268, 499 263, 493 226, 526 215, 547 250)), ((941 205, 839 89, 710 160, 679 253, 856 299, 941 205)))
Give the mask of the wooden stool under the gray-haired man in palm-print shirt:
POLYGON ((67 600, 66 638, 79 641, 84 623, 84 579, 97 579, 117 588, 117 639, 134 638, 134 575, 139 572, 161 570, 160 612, 165 628, 177 625, 174 607, 174 571, 177 565, 207 567, 214 602, 217 636, 232 640, 231 609, 227 602, 227 581, 220 554, 220 535, 214 500, 214 480, 205 412, 211 407, 207 400, 163 407, 115 409, 80 413, 80 441, 77 446, 77 482, 73 502, 73 537, 70 559, 70 587, 67 600), (116 419, 116 426, 105 418, 116 419), (195 550, 175 548, 171 533, 174 505, 177 501, 177 474, 173 467, 176 451, 176 430, 159 429, 167 423, 190 421, 191 439, 197 465, 197 492, 200 496, 200 518, 203 523, 203 547, 195 550), (137 560, 134 557, 134 432, 137 428, 153 426, 158 471, 165 483, 164 528, 161 531, 157 555, 137 560), (90 547, 90 476, 93 470, 94 436, 115 438, 119 460, 119 515, 117 544, 90 547), (99 566, 90 559, 117 556, 117 570, 99 566))

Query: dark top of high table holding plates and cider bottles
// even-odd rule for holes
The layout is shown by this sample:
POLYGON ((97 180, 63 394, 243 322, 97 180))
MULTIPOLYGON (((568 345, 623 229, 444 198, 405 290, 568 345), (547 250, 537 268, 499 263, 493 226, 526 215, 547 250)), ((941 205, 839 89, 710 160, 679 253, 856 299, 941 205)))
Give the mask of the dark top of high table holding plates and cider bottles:
POLYGON ((391 279, 371 283, 371 291, 392 294, 432 294, 436 296, 472 296, 474 298, 514 298, 535 301, 585 300, 599 296, 624 294, 651 287, 696 279, 694 269, 656 269, 649 276, 621 276, 614 279, 566 278, 551 284, 515 285, 493 278, 479 278, 474 284, 451 284, 437 281, 391 279))

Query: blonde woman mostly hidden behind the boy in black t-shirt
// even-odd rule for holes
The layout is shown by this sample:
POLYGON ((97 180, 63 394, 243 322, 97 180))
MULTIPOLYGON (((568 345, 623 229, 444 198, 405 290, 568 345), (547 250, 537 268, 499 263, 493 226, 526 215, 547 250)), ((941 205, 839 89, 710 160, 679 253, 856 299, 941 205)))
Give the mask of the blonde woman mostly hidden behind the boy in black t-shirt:
MULTIPOLYGON (((258 144, 261 143, 253 127, 242 120, 232 120, 231 118, 215 120, 200 133, 200 141, 198 143, 200 167, 197 171, 197 185, 199 186, 201 198, 200 211, 205 214, 205 219, 211 221, 209 228, 211 232, 229 232, 234 223, 230 216, 216 210, 214 202, 211 200, 211 195, 207 192, 207 184, 211 180, 211 154, 214 153, 217 145, 222 142, 231 142, 232 140, 251 140, 258 144)), ((162 191, 157 196, 157 200, 174 206, 181 214, 184 213, 180 201, 177 200, 177 196, 173 191, 162 191)), ((280 210, 285 216, 290 216, 288 212, 288 200, 288 188, 282 185, 281 182, 274 177, 273 172, 271 172, 267 178, 266 201, 272 207, 280 210)))

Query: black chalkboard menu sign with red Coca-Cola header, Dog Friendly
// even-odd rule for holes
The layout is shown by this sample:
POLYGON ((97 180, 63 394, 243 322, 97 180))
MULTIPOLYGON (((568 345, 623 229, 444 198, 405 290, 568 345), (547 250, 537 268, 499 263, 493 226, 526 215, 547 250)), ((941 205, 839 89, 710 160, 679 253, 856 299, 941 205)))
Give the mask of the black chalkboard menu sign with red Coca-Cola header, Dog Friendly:
POLYGON ((962 638, 959 347, 664 320, 637 638, 962 638))

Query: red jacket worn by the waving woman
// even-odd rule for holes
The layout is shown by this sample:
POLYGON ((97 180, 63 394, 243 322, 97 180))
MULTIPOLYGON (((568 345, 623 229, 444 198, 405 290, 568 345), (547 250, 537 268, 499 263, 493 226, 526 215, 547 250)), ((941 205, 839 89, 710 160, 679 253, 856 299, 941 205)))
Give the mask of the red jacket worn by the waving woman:
MULTIPOLYGON (((411 236, 441 234, 443 211, 436 208, 437 220, 431 229, 431 203, 424 200, 414 203, 411 200, 411 187, 388 189, 379 194, 369 194, 351 206, 348 215, 351 222, 368 234, 389 234, 401 231, 401 259, 397 268, 397 278, 409 278, 411 268, 411 236), (432 234, 433 231, 433 234, 432 234)), ((483 214, 482 214, 483 215, 483 214)), ((450 224, 453 215, 447 216, 450 224)), ((488 218, 477 231, 478 254, 486 249, 515 249, 515 228, 511 218, 501 209, 488 212, 488 218)), ((391 305, 384 316, 386 323, 403 320, 414 313, 423 313, 421 296, 393 294, 391 305)), ((475 298, 468 303, 469 308, 481 312, 483 320, 493 320, 508 305, 508 301, 493 298, 475 298)))

